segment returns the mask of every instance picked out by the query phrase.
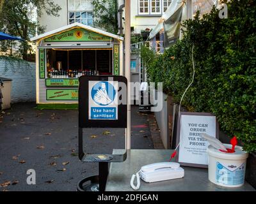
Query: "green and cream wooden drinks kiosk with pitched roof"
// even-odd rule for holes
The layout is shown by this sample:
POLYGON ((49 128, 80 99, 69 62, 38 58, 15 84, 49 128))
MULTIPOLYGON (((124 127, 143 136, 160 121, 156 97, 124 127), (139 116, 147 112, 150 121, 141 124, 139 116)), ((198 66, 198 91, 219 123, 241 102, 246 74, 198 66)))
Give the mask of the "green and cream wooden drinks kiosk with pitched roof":
POLYGON ((36 41, 36 103, 77 105, 82 75, 124 75, 124 38, 74 23, 36 41))

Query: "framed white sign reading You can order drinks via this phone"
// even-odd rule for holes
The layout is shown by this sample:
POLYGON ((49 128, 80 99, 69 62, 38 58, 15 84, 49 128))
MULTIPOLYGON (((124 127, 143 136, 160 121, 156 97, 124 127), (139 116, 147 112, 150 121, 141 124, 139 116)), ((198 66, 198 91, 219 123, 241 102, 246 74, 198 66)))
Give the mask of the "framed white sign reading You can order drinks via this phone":
MULTIPOLYGON (((185 112, 186 114, 186 112, 185 112)), ((188 113, 187 113, 188 114, 188 113)), ((213 115, 188 115, 181 114, 181 126, 179 131, 179 162, 192 164, 191 166, 208 164, 207 147, 209 142, 200 137, 200 133, 216 138, 216 117, 213 115), (195 164, 195 165, 193 165, 195 164)), ((205 113, 207 114, 207 113, 205 113)), ((189 165, 188 165, 189 166, 189 165)))

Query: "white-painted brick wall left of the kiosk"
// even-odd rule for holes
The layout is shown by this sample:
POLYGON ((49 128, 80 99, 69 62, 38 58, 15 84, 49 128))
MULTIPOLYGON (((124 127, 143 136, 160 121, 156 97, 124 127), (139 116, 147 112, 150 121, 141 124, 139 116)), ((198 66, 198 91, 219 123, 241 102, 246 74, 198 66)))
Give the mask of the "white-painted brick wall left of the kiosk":
POLYGON ((12 79, 12 103, 36 100, 36 64, 0 57, 0 77, 12 79))

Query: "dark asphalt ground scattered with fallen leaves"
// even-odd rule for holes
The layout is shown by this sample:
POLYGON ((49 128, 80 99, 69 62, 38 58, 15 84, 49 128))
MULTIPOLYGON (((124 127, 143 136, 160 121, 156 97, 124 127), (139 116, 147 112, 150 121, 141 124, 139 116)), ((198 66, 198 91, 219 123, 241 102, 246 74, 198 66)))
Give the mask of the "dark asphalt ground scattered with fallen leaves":
MULTIPOLYGON (((78 156, 78 111, 37 110, 17 103, 0 119, 0 191, 76 191, 77 182, 98 173, 97 163, 78 156), (36 172, 28 185, 27 171, 36 172)), ((154 149, 147 114, 131 109, 131 148, 154 149)), ((84 129, 84 151, 110 153, 124 149, 124 129, 84 129)), ((127 184, 129 185, 129 184, 127 184)))

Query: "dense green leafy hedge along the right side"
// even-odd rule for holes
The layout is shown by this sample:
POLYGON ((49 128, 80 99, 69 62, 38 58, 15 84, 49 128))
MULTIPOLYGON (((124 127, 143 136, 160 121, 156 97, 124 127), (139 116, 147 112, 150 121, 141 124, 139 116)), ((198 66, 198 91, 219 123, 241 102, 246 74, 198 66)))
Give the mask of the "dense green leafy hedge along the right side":
POLYGON ((248 152, 256 152, 256 1, 228 3, 228 18, 219 11, 184 22, 184 38, 154 55, 141 49, 151 82, 163 82, 166 94, 179 101, 193 74, 195 82, 183 105, 193 112, 212 112, 220 128, 236 135, 248 152))

